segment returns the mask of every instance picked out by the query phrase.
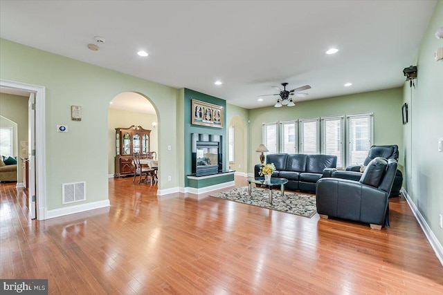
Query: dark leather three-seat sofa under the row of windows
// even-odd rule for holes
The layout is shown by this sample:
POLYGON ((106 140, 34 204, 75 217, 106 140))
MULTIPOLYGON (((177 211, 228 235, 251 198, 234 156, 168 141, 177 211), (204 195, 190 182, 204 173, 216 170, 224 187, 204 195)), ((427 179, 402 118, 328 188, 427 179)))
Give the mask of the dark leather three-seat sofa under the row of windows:
MULTIPOLYGON (((316 182, 322 177, 331 177, 337 166, 335 155, 303 155, 275 153, 266 155, 266 163, 273 163, 275 171, 271 177, 286 178, 285 189, 290 191, 316 192, 316 182)), ((255 165, 254 175, 260 177, 262 164, 255 165)))

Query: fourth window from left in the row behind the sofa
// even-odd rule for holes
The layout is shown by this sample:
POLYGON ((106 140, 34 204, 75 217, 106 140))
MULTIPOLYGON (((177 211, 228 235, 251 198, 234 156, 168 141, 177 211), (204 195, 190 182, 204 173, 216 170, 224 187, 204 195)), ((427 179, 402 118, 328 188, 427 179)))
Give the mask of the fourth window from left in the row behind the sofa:
POLYGON ((336 155, 337 168, 344 168, 343 116, 321 118, 321 133, 321 153, 336 155))

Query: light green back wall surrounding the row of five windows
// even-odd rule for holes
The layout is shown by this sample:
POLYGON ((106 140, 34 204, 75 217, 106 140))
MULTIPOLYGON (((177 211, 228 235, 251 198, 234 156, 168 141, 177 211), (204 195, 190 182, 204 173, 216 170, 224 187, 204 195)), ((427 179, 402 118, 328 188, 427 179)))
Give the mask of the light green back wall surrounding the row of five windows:
MULTIPOLYGON (((260 162, 255 149, 262 144, 262 123, 266 122, 372 112, 374 113, 374 144, 397 144, 401 150, 403 149, 401 97, 402 89, 392 88, 298 102, 293 107, 275 108, 270 106, 250 110, 251 140, 248 171, 253 173, 254 165, 260 162)), ((399 160, 399 169, 403 169, 403 163, 402 160, 399 160)))

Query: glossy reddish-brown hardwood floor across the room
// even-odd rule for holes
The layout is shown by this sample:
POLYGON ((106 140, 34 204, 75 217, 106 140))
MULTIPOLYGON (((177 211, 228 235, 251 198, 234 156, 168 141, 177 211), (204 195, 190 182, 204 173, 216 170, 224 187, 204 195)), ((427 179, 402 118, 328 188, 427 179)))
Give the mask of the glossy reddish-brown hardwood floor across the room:
POLYGON ((404 198, 379 231, 156 189, 110 179, 111 207, 35 221, 26 189, 0 184, 0 278, 48 278, 49 294, 443 293, 404 198))

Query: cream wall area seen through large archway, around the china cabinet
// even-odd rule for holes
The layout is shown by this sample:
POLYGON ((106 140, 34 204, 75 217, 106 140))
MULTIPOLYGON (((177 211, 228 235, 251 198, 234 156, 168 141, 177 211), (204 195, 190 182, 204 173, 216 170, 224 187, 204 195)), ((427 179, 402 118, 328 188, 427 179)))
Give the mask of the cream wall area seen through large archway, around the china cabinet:
POLYGON ((116 129, 126 129, 131 126, 149 130, 149 146, 140 151, 141 155, 146 152, 155 152, 154 157, 158 159, 159 155, 159 117, 156 108, 147 97, 134 93, 125 92, 116 95, 109 104, 108 110, 108 176, 123 177, 132 175, 132 173, 120 173, 121 162, 117 160, 116 155, 120 153, 116 146, 116 129))

